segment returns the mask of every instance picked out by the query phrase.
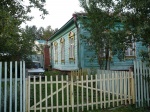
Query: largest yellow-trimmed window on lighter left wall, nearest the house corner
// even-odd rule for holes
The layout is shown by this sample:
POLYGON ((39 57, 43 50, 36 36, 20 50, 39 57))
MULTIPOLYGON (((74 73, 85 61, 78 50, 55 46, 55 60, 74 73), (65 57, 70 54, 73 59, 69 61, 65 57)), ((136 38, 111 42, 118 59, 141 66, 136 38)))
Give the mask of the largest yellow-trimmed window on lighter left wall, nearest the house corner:
POLYGON ((69 59, 74 59, 75 58, 75 46, 74 46, 74 33, 70 32, 69 33, 69 59))

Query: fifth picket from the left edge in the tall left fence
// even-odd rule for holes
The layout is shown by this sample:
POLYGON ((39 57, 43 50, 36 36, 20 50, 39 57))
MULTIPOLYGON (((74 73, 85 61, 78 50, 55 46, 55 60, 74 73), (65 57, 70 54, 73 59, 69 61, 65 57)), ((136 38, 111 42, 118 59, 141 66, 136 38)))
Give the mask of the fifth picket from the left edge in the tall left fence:
POLYGON ((23 111, 22 108, 22 61, 20 61, 20 112, 23 111))

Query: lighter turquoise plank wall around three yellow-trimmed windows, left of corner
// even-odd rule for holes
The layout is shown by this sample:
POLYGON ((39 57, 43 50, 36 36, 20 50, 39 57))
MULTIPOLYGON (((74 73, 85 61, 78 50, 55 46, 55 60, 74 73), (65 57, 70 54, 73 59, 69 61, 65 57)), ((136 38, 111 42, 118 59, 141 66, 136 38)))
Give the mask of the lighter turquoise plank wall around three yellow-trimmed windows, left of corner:
POLYGON ((76 70, 78 69, 78 57, 77 57, 77 28, 74 24, 69 26, 65 31, 60 33, 58 36, 56 36, 52 41, 58 43, 58 62, 55 62, 54 60, 54 45, 52 47, 52 57, 51 57, 51 64, 53 68, 59 69, 59 70, 76 70), (75 61, 69 60, 69 33, 70 32, 75 33, 75 61), (65 62, 61 62, 61 47, 60 47, 60 39, 65 39, 65 62))

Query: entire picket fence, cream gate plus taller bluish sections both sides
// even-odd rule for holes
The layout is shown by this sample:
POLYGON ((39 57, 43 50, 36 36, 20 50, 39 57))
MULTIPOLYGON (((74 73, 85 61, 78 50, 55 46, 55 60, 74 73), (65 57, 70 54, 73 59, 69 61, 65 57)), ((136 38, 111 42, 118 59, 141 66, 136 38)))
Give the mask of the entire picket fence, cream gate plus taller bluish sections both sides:
POLYGON ((82 70, 71 77, 25 79, 24 61, 0 62, 0 112, 80 112, 135 102, 140 107, 150 105, 150 68, 145 63, 135 61, 134 73, 96 73, 82 70))

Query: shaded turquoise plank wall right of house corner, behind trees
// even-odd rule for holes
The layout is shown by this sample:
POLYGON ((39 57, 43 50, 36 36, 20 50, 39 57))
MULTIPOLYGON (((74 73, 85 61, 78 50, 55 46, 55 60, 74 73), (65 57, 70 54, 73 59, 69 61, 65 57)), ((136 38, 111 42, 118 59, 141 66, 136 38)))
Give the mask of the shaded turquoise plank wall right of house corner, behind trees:
MULTIPOLYGON (((86 30, 80 29, 80 34, 82 35, 90 35, 86 30)), ((80 52, 81 52, 81 67, 82 68, 99 68, 99 64, 97 61, 97 58, 95 56, 94 51, 89 51, 88 46, 86 46, 85 43, 83 43, 82 39, 80 39, 80 42, 82 43, 80 46, 80 52), (95 58, 94 58, 95 57, 95 58), (90 61, 93 59, 93 61, 90 61)), ((130 67, 133 67, 133 61, 134 60, 141 60, 140 52, 141 50, 147 50, 145 46, 142 46, 142 42, 136 42, 135 44, 135 58, 125 58, 123 61, 120 61, 118 59, 117 55, 112 56, 111 60, 109 61, 109 69, 111 70, 129 70, 130 67)))

